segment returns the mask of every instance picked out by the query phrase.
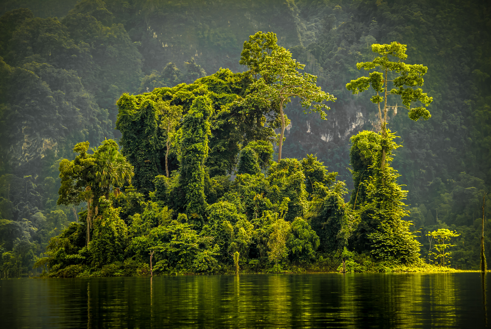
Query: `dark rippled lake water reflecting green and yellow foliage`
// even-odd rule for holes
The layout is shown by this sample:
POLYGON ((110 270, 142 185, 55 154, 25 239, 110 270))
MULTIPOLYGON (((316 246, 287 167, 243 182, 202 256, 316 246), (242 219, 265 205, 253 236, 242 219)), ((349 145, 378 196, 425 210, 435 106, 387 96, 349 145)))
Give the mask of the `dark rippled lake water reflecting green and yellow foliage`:
POLYGON ((490 280, 481 273, 0 280, 0 327, 484 328, 490 280))

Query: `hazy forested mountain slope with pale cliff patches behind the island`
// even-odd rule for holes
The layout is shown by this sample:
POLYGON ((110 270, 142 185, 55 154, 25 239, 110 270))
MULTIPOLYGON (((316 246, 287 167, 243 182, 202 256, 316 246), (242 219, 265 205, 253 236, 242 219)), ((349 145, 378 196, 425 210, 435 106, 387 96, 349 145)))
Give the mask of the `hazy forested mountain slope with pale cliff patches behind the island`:
POLYGON ((303 114, 295 101, 286 107, 291 125, 283 157, 317 153, 349 188, 358 183, 349 172, 349 138, 377 129, 369 96, 345 88, 363 74, 356 62, 373 58, 371 44, 398 41, 408 45, 409 62, 428 66, 432 118, 389 114, 389 128, 404 146, 393 165, 409 190, 414 228, 459 228, 454 259, 477 266, 477 219, 491 188, 487 1, 42 3, 0 6, 0 251, 22 250, 17 258, 5 256, 18 273, 31 271, 48 240, 77 219, 80 207, 55 205, 58 163, 74 158, 78 142, 96 146, 121 136, 120 95, 189 84, 220 67, 244 71, 242 44, 258 30, 277 33, 278 44, 337 97, 327 120, 303 114))

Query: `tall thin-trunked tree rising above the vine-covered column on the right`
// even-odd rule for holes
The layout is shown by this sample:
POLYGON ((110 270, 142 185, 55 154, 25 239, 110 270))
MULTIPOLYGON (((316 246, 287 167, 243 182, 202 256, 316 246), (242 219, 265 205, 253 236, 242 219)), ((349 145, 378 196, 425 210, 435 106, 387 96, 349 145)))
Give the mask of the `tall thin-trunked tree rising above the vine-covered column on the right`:
POLYGON ((421 64, 406 64, 404 60, 408 58, 406 55, 407 47, 396 41, 389 44, 373 44, 372 51, 380 56, 372 61, 356 63, 356 68, 361 68, 366 71, 375 70, 368 77, 359 77, 346 84, 346 89, 351 90, 353 94, 367 90, 370 86, 376 91, 370 100, 377 104, 379 109, 379 122, 382 133, 382 161, 381 168, 385 166, 385 156, 387 152, 387 112, 389 108, 402 107, 408 110, 409 119, 418 120, 423 118, 428 120, 431 117, 430 112, 426 109, 433 101, 432 97, 428 97, 421 88, 413 89, 415 86, 423 86, 423 75, 428 71, 428 67, 421 64), (389 59, 395 59, 395 61, 389 59), (398 73, 394 78, 393 73, 398 73), (392 83, 392 84, 389 84, 392 83), (394 88, 388 90, 390 86, 394 88), (405 87, 407 86, 407 87, 405 87), (382 94, 382 95, 381 95, 382 94), (390 95, 400 95, 402 105, 387 105, 387 97, 390 95), (411 108, 411 103, 419 101, 423 106, 411 108), (382 103, 382 107, 381 107, 382 103))

